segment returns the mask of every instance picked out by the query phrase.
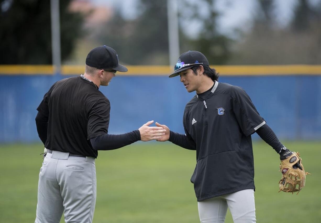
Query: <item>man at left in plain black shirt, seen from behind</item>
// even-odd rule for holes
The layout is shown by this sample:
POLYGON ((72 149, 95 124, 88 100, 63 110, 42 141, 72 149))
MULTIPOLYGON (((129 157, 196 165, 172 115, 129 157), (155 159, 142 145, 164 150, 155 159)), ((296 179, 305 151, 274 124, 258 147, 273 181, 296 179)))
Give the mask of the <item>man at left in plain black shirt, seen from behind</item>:
POLYGON ((117 71, 116 51, 100 46, 86 58, 85 73, 58 81, 37 108, 39 138, 45 145, 39 173, 37 223, 92 222, 96 202, 95 158, 98 150, 114 150, 138 140, 164 135, 162 127, 149 121, 138 130, 108 134, 109 100, 98 90, 108 86, 117 71))

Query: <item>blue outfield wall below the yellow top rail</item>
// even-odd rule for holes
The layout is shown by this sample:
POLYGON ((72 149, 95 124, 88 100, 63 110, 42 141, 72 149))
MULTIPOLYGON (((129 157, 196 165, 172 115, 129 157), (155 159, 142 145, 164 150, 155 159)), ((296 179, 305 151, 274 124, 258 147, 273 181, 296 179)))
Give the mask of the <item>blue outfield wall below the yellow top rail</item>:
MULTIPOLYGON (((0 76, 0 142, 40 142, 35 117, 50 86, 68 76, 0 76)), ((321 140, 321 76, 221 76, 242 87, 280 139, 321 140)), ((117 76, 100 90, 111 103, 109 133, 138 129, 149 120, 184 133, 188 93, 179 77, 117 76)), ((256 134, 253 138, 257 139, 256 134)))

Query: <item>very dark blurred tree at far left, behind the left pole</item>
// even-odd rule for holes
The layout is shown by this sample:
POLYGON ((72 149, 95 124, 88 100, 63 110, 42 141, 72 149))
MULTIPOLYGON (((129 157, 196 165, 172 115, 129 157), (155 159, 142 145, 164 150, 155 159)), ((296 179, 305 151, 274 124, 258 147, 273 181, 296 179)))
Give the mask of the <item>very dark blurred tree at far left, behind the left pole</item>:
MULTIPOLYGON (((84 15, 60 0, 61 58, 82 36, 84 15)), ((0 0, 0 64, 52 64, 49 0, 0 0)))

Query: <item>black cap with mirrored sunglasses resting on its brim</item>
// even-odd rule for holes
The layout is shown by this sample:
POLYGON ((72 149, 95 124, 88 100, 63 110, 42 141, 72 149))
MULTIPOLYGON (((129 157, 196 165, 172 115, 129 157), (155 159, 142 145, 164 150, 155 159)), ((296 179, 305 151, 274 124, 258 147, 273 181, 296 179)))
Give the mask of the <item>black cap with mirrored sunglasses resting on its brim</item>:
POLYGON ((169 77, 176 77, 178 76, 178 73, 199 65, 209 66, 208 60, 204 54, 198 51, 187 51, 179 56, 177 64, 174 66, 174 73, 169 75, 169 77))

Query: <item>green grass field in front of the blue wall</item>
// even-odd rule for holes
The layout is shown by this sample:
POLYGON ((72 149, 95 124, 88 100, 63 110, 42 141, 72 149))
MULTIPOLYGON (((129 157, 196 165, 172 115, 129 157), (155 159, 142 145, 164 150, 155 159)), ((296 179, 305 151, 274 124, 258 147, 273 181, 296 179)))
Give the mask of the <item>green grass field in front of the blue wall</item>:
MULTIPOLYGON (((298 195, 278 193, 279 157, 264 142, 255 142, 257 222, 320 222, 321 142, 283 143, 300 152, 312 176, 298 195)), ((1 145, 0 151, 0 222, 34 222, 43 146, 1 145)), ((199 222, 189 181, 194 167, 195 151, 172 143, 135 143, 100 151, 93 222, 199 222)), ((225 222, 233 222, 229 212, 225 222)))

